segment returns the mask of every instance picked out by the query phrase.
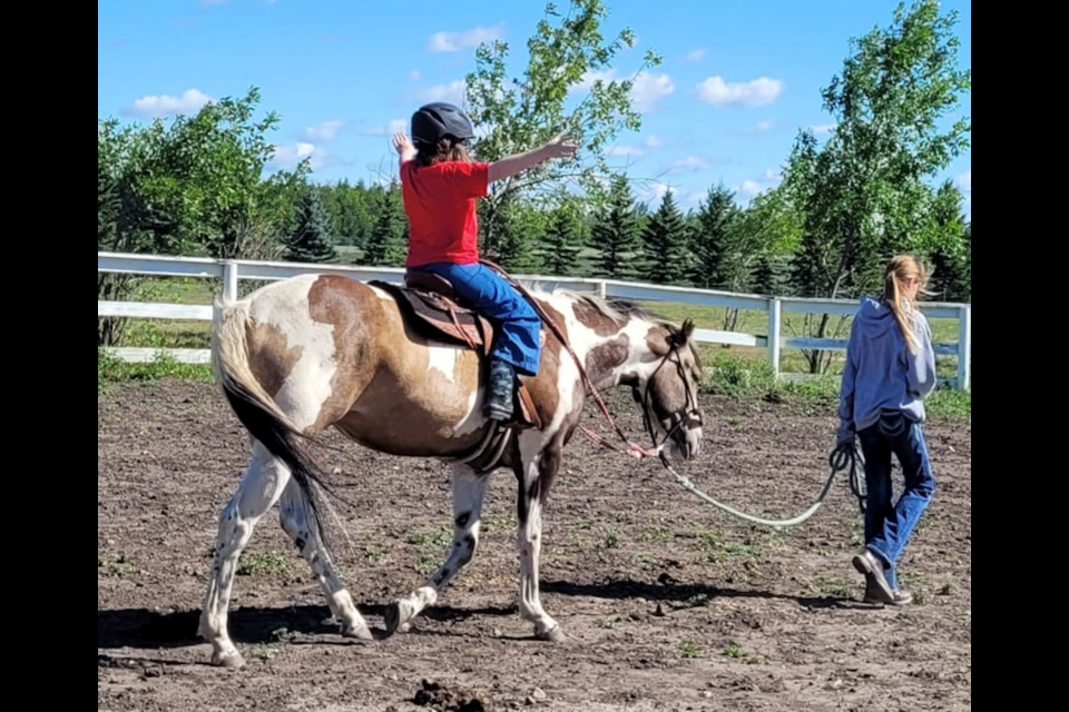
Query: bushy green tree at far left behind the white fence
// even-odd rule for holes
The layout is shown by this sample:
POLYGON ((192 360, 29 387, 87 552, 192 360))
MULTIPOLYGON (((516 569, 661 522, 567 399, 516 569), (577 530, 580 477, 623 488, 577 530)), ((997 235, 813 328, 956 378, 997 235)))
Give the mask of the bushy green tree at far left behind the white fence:
MULTIPOLYGON (((275 258, 295 227, 295 204, 308 171, 265 178, 274 156, 266 132, 278 121, 254 118, 259 91, 226 97, 170 125, 97 121, 97 249, 275 258)), ((98 299, 126 299, 143 283, 130 275, 97 277, 98 299)), ((121 338, 122 319, 98 319, 98 345, 121 338)))

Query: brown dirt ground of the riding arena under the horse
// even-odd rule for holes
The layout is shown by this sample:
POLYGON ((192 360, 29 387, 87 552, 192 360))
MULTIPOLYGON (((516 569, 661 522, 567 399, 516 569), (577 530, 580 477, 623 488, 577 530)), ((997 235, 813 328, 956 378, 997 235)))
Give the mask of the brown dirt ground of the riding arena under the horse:
MULTIPOLYGON (((629 396, 605 394, 645 444, 629 396)), ((704 452, 677 467, 753 514, 805 511, 828 475, 834 404, 704 396, 704 452)), ((615 437, 591 405, 588 427, 615 437)), ((244 431, 210 384, 114 386, 97 404, 98 710, 396 712, 526 709, 971 710, 972 426, 931 421, 935 496, 900 564, 914 603, 861 602, 857 502, 777 531, 710 507, 653 459, 577 434, 545 513, 542 603, 568 639, 519 619, 514 481, 498 472, 475 558, 408 633, 343 639, 278 525, 253 534, 231 631, 248 665, 213 668, 196 637, 216 514, 246 464, 244 431)), ((337 552, 373 627, 421 584, 451 533, 448 473, 363 451, 321 457, 362 510, 337 552)))

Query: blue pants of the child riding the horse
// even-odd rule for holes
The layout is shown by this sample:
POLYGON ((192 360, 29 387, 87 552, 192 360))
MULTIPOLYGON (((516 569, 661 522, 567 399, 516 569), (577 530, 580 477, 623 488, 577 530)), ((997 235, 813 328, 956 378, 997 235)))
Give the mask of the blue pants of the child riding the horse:
POLYGON ((511 364, 518 375, 538 375, 542 320, 501 275, 481 264, 433 263, 411 269, 444 277, 460 300, 494 323, 490 358, 511 364))

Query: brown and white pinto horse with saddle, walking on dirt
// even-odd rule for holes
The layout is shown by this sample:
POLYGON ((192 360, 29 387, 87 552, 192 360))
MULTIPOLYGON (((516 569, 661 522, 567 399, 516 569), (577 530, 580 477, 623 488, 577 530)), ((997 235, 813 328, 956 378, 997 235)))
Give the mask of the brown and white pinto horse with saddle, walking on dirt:
POLYGON ((482 415, 492 324, 458 301, 444 280, 418 276, 409 271, 399 286, 305 274, 242 299, 216 297, 212 367, 248 432, 251 461, 218 513, 197 630, 212 645, 214 665, 244 665, 227 631, 227 607, 242 551, 276 503, 282 528, 312 568, 341 634, 375 639, 330 551, 323 493, 333 492, 332 483, 308 448, 327 428, 381 453, 451 466, 452 544, 423 585, 386 606, 381 637, 408 631, 472 560, 489 476, 504 467, 517 478, 519 613, 536 639, 565 640, 539 597, 541 510, 588 390, 631 388, 647 433, 660 441, 656 452, 632 448, 666 463, 698 454, 703 370, 693 320, 676 326, 626 301, 513 281, 541 315, 542 349, 538 375, 518 378, 513 419, 501 424, 482 415))

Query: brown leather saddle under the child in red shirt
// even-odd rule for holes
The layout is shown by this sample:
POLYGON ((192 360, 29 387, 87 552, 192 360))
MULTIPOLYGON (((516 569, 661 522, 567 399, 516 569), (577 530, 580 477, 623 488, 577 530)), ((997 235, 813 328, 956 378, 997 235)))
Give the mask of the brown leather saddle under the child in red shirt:
MULTIPOLYGON (((379 279, 369 284, 393 295, 408 324, 424 338, 444 338, 449 343, 467 346, 479 353, 482 360, 489 356, 493 344, 493 324, 478 310, 464 306, 448 279, 409 269, 404 274, 403 286, 379 279)), ((520 427, 541 427, 534 400, 522 382, 517 382, 512 398, 511 423, 520 427)))

